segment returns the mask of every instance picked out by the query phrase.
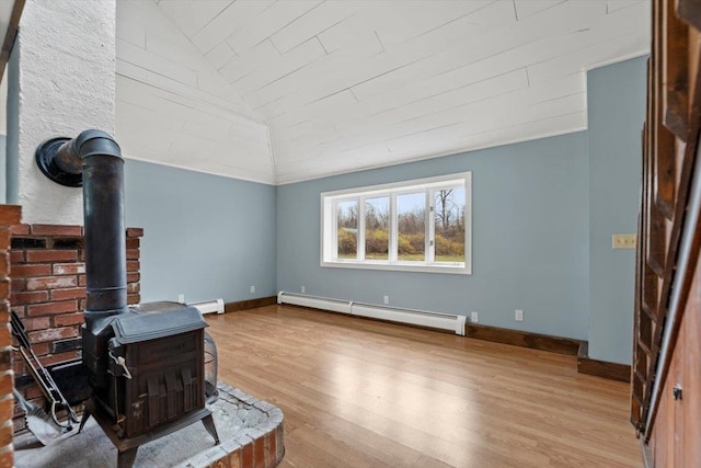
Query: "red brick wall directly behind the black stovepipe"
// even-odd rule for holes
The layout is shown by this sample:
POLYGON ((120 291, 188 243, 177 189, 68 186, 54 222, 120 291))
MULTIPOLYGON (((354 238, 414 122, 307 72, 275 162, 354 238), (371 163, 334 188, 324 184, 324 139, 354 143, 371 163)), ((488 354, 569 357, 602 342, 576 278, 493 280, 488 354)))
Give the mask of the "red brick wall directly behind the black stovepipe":
MULTIPOLYGON (((34 353, 43 365, 81 357, 80 327, 85 308, 85 251, 81 226, 18 225, 11 230, 10 301, 26 328, 34 353)), ((140 301, 139 238, 127 236, 128 304, 140 301)), ((42 393, 26 375, 21 356, 14 356, 18 389, 28 400, 42 393)), ((22 427, 16 421, 18 429, 22 427)))

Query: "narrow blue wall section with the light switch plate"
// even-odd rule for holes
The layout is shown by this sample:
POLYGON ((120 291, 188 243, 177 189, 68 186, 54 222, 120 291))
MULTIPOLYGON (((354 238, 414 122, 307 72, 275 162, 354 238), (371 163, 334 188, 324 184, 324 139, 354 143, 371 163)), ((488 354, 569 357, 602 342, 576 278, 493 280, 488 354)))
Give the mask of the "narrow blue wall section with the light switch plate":
POLYGON ((635 232, 645 121, 645 57, 587 73, 589 110, 589 357, 630 364, 634 250, 613 233, 635 232))

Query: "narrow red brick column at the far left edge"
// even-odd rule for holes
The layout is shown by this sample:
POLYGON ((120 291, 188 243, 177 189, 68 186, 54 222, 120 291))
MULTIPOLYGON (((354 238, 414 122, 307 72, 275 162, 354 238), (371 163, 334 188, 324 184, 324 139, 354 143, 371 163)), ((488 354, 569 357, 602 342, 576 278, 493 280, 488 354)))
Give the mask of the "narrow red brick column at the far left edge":
POLYGON ((21 222, 19 206, 0 205, 0 467, 14 465, 12 447, 12 351, 10 345, 10 229, 21 222))

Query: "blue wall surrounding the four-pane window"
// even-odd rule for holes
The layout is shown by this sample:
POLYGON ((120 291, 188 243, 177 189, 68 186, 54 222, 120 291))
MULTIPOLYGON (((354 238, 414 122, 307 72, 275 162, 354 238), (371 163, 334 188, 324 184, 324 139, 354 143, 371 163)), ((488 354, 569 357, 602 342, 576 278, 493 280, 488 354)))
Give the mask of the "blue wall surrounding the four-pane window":
POLYGON ((480 313, 494 327, 587 339, 586 133, 277 189, 277 287, 340 299, 480 313), (321 192, 472 171, 472 275, 321 267, 321 192), (514 320, 522 309, 524 322, 514 320))

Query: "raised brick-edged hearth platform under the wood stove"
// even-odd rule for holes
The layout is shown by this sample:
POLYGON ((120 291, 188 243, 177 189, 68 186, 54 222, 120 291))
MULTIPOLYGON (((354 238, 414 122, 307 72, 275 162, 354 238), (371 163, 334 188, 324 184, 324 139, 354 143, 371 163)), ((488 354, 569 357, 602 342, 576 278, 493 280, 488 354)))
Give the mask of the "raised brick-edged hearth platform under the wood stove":
MULTIPOLYGON (((214 445, 204 425, 195 423, 139 447, 134 466, 275 467, 285 454, 283 412, 227 384, 219 383, 218 388, 211 412, 220 445, 214 445)), ((15 438, 16 467, 117 466, 117 449, 93 419, 82 433, 76 427, 48 447, 30 448, 32 442, 31 434, 15 438)))

